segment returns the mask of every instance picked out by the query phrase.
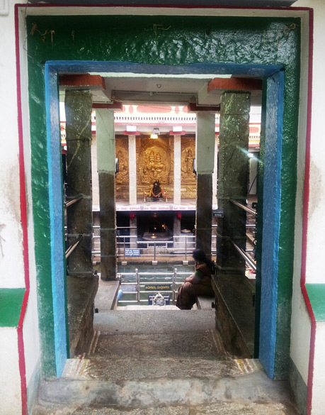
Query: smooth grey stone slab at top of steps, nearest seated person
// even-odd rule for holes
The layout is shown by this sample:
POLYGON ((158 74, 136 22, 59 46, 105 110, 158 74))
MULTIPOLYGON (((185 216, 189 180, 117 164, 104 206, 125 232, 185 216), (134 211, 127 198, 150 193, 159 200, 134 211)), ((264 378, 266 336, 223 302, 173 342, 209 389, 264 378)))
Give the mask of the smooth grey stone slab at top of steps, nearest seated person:
POLYGON ((94 328, 102 333, 175 333, 215 328, 215 310, 99 311, 94 328))

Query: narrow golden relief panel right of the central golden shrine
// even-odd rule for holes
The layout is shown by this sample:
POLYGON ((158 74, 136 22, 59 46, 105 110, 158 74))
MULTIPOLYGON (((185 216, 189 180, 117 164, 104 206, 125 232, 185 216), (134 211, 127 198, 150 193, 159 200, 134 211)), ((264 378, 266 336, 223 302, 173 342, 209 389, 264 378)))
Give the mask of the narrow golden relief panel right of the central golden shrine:
POLYGON ((181 140, 181 197, 195 199, 196 179, 193 173, 193 158, 195 158, 195 138, 181 140))

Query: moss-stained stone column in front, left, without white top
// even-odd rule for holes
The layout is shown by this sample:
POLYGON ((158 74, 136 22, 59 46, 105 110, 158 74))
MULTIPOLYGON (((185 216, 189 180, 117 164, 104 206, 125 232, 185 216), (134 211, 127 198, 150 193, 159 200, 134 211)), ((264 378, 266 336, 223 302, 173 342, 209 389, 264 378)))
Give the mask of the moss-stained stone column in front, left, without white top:
POLYGON ((67 131, 67 201, 81 197, 67 208, 67 243, 79 245, 67 259, 69 275, 92 274, 93 234, 91 197, 91 92, 67 91, 65 116, 67 131))

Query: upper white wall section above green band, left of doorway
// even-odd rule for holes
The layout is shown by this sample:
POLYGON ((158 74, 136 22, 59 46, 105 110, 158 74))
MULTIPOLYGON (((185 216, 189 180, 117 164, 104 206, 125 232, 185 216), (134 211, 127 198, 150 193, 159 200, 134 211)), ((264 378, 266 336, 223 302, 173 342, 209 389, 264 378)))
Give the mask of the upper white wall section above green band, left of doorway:
POLYGON ((0 16, 0 287, 23 287, 13 6, 0 16), (5 80, 5 81, 4 81, 5 80))

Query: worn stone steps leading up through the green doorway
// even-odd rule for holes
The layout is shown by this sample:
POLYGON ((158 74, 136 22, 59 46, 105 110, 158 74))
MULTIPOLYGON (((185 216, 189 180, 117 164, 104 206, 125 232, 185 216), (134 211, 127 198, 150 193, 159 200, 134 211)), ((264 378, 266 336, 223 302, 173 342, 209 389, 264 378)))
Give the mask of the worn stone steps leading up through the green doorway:
POLYGON ((225 352, 213 309, 103 311, 94 328, 33 415, 298 414, 287 382, 225 352))

